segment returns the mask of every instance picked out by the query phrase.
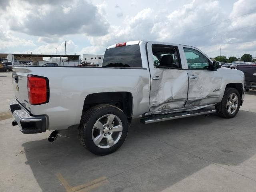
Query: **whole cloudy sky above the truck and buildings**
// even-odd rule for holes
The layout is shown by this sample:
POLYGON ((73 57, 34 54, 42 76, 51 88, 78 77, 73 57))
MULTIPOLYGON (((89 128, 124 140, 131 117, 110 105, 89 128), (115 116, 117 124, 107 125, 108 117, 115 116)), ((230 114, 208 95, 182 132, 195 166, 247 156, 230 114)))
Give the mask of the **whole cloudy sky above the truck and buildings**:
POLYGON ((129 40, 256 56, 255 0, 2 0, 0 53, 104 54, 129 40))

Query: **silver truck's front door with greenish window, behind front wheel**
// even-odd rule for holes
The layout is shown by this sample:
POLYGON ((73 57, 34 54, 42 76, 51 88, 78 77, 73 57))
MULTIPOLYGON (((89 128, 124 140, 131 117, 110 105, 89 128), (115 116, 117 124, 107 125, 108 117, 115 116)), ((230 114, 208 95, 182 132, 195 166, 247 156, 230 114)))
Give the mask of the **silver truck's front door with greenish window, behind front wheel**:
POLYGON ((220 97, 222 77, 208 70, 210 60, 199 50, 183 47, 188 63, 188 101, 186 107, 216 104, 220 97))

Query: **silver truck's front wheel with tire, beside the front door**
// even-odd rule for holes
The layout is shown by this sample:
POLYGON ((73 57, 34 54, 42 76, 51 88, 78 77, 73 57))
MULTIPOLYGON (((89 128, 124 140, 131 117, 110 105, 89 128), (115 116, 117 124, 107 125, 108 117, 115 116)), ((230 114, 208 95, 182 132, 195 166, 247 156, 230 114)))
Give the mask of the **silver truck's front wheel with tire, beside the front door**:
POLYGON ((241 98, 238 90, 235 88, 226 88, 222 101, 215 106, 216 112, 223 118, 233 118, 239 111, 240 102, 241 98))

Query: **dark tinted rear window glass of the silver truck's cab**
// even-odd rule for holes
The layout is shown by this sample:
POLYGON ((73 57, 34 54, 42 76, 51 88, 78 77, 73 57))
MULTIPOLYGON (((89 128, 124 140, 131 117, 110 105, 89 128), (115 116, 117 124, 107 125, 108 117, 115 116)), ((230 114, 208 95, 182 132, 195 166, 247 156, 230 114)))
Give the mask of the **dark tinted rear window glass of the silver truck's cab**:
POLYGON ((128 45, 107 49, 102 67, 135 67, 142 68, 139 45, 128 45))

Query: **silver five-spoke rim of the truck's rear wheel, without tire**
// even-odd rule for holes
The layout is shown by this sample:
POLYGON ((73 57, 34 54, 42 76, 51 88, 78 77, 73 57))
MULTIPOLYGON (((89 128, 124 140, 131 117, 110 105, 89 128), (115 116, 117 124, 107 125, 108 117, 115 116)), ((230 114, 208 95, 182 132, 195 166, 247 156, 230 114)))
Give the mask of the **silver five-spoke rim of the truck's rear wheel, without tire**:
POLYGON ((118 116, 107 114, 99 118, 92 128, 92 140, 100 148, 110 148, 121 138, 123 125, 118 116))

